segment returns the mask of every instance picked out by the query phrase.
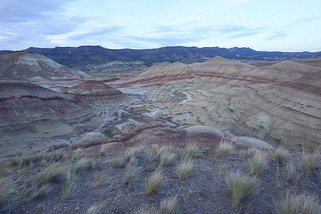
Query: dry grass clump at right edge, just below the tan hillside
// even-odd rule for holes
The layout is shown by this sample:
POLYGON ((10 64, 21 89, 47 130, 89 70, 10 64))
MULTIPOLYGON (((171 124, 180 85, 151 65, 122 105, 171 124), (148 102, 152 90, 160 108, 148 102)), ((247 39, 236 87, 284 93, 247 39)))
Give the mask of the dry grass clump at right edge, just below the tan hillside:
POLYGON ((303 152, 301 159, 295 162, 298 168, 302 170, 302 173, 311 173, 313 170, 320 167, 321 158, 318 151, 314 153, 303 152))

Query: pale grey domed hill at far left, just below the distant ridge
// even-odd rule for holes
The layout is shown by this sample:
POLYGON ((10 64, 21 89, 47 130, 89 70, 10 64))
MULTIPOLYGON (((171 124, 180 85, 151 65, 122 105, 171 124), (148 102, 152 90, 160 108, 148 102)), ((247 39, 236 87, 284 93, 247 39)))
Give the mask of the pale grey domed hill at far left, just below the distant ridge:
POLYGON ((33 52, 15 51, 0 54, 0 79, 6 80, 66 80, 89 77, 33 52))

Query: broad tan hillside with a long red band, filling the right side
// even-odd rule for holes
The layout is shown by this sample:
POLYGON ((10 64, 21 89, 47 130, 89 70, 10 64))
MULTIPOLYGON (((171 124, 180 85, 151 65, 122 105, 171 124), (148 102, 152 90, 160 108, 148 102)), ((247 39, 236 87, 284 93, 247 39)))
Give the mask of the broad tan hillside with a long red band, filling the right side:
POLYGON ((161 63, 111 86, 133 85, 151 87, 155 101, 144 108, 153 109, 155 117, 229 129, 273 146, 320 146, 321 83, 315 66, 282 61, 256 67, 215 57, 188 65, 161 63))

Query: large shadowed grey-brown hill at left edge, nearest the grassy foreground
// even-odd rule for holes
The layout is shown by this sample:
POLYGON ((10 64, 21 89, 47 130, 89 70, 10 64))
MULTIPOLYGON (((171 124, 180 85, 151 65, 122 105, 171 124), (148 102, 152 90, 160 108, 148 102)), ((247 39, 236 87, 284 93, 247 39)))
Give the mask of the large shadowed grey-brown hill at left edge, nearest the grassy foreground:
POLYGON ((25 142, 70 134, 99 114, 95 106, 35 84, 0 83, 0 156, 50 146, 25 142))

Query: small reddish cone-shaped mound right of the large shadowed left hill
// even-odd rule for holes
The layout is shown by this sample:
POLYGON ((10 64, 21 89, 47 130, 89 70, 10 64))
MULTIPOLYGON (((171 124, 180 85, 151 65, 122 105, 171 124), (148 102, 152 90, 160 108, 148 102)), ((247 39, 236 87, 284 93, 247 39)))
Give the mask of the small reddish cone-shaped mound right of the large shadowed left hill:
POLYGON ((96 106, 105 106, 130 101, 129 96, 100 81, 88 80, 71 88, 61 91, 70 93, 82 101, 87 101, 96 106))

